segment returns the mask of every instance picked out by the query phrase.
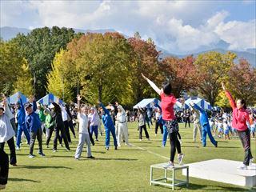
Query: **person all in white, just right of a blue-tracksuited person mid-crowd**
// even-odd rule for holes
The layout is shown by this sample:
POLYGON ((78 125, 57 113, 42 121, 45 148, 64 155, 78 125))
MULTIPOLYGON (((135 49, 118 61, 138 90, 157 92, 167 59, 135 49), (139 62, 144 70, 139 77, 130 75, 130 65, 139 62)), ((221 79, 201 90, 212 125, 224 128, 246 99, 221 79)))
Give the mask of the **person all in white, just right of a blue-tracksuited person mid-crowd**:
POLYGON ((127 128, 127 124, 126 124, 126 111, 122 108, 121 105, 118 105, 118 102, 116 102, 116 106, 118 106, 118 114, 117 114, 118 146, 121 146, 122 135, 124 137, 126 145, 130 146, 130 144, 128 142, 128 128, 127 128))

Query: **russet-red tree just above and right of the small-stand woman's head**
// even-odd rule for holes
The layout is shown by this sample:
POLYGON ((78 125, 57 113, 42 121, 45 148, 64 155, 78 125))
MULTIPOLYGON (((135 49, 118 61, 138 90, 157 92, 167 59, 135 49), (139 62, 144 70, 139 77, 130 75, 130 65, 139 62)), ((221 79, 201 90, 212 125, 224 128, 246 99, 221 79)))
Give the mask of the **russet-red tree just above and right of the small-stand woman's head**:
POLYGON ((162 77, 170 81, 177 98, 182 95, 182 92, 193 89, 198 84, 193 56, 164 58, 160 62, 160 71, 162 77))

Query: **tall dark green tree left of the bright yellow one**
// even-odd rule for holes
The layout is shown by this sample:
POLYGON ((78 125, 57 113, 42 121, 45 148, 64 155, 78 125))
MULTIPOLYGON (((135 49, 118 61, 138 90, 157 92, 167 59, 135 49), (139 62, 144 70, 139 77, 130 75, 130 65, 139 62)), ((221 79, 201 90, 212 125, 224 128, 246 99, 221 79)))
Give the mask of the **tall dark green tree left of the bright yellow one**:
POLYGON ((36 77, 35 94, 42 97, 46 94, 46 74, 51 70, 51 63, 60 49, 65 49, 74 38, 74 30, 54 26, 34 29, 30 34, 18 34, 16 42, 20 51, 30 65, 32 76, 36 77))

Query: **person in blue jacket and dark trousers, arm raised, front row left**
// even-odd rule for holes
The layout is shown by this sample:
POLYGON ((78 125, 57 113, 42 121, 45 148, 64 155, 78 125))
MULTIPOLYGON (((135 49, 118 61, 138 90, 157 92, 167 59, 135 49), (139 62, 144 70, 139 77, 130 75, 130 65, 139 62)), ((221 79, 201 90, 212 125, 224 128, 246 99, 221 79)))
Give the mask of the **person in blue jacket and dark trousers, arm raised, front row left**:
MULTIPOLYGON (((32 99, 31 99, 32 100, 32 99)), ((26 127, 30 131, 30 155, 29 158, 34 158, 33 150, 34 150, 34 142, 35 138, 38 139, 38 154, 40 156, 45 156, 45 154, 42 153, 42 129, 41 129, 41 121, 39 118, 39 115, 35 113, 37 110, 37 103, 35 102, 35 99, 33 98, 33 105, 30 103, 26 104, 25 106, 26 110, 26 127)))

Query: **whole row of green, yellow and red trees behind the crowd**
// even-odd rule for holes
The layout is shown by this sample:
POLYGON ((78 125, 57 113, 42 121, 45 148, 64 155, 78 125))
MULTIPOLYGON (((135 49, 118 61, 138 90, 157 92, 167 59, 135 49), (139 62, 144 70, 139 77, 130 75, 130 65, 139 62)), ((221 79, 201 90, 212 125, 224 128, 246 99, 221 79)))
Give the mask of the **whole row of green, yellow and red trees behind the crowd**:
POLYGON ((74 34, 66 28, 45 27, 1 42, 0 88, 6 94, 14 90, 31 94, 35 76, 38 98, 48 91, 72 101, 80 92, 87 102, 132 105, 157 96, 142 79, 143 73, 158 86, 172 82, 176 97, 199 94, 212 105, 228 106, 221 89, 221 82, 228 82, 235 97, 254 104, 256 70, 244 59, 234 64, 236 57, 208 52, 197 58, 161 58, 154 42, 142 40, 138 33, 126 39, 118 33, 74 34))

